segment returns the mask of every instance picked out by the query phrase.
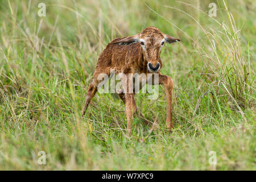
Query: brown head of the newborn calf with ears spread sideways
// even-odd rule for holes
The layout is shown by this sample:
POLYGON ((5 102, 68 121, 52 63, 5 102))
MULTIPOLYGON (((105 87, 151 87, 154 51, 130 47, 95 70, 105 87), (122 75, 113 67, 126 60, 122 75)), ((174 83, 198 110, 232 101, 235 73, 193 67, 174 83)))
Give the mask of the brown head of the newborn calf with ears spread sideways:
POLYGON ((180 39, 163 34, 156 27, 147 27, 141 33, 119 39, 114 44, 131 44, 139 42, 141 44, 143 58, 147 61, 147 69, 154 73, 158 72, 162 65, 160 52, 164 43, 170 44, 179 41, 180 39))

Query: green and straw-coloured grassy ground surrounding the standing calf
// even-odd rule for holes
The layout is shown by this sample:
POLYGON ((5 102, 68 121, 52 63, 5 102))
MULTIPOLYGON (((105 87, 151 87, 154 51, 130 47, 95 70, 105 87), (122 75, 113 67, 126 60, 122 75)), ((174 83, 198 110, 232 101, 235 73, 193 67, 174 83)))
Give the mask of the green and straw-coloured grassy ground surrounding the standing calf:
POLYGON ((43 1, 46 17, 40 2, 0 5, 0 169, 256 169, 253 0, 43 1), (100 52, 148 26, 181 39, 161 56, 175 129, 162 86, 156 100, 136 95, 155 125, 135 116, 131 137, 115 94, 97 93, 81 117, 100 52))

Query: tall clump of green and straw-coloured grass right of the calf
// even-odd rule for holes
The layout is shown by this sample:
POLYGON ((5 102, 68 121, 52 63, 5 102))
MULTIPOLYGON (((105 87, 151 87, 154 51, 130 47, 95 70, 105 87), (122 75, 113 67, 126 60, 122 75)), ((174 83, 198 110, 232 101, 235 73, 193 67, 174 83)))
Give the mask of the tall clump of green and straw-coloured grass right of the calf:
MULTIPOLYGON (((209 16, 196 6, 185 2, 179 3, 192 7, 200 13, 209 16)), ((207 31, 197 19, 193 18, 193 16, 185 11, 175 7, 166 7, 188 15, 189 18, 200 26, 201 31, 203 31, 205 35, 205 40, 208 42, 202 41, 202 39, 193 40, 201 59, 205 61, 205 77, 202 78, 205 79, 205 84, 207 84, 208 87, 207 91, 199 97, 195 112, 201 99, 208 92, 211 92, 211 89, 215 88, 214 92, 211 92, 213 96, 217 98, 214 104, 219 107, 219 102, 225 103, 232 101, 237 111, 241 113, 243 119, 246 119, 242 109, 253 107, 255 104, 253 97, 250 97, 255 91, 253 88, 254 78, 251 78, 251 74, 249 73, 251 67, 250 60, 246 60, 244 56, 245 50, 241 48, 241 40, 238 35, 241 29, 237 30, 232 13, 230 13, 225 1, 223 1, 223 4, 225 7, 224 13, 226 13, 226 15, 222 14, 222 16, 228 17, 228 22, 220 23, 218 20, 212 18, 216 24, 215 26, 221 26, 222 30, 209 28, 209 31, 207 31)), ((189 36, 189 38, 191 37, 189 36)), ((250 59, 250 56, 248 56, 247 59, 250 59)), ((221 116, 221 118, 223 117, 221 116)))

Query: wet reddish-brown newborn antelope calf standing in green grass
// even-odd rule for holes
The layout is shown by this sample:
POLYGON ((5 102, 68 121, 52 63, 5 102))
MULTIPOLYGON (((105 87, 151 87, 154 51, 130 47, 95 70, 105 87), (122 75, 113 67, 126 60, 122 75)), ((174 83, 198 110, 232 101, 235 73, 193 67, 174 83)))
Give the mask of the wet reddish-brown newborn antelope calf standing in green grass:
MULTIPOLYGON (((166 126, 169 130, 172 129, 172 89, 173 81, 170 76, 162 75, 162 61, 160 59, 161 48, 164 43, 179 42, 170 35, 163 34, 156 27, 147 27, 141 33, 125 38, 117 38, 106 46, 104 51, 98 57, 96 70, 93 74, 93 81, 90 83, 86 94, 85 106, 82 109, 82 115, 97 92, 97 86, 102 81, 98 78, 101 73, 110 75, 110 69, 114 69, 115 73, 126 75, 126 80, 122 80, 123 92, 119 93, 119 97, 125 102, 125 113, 127 117, 127 131, 131 133, 131 121, 133 114, 137 111, 137 106, 134 100, 135 92, 128 92, 129 85, 133 84, 133 79, 129 76, 130 73, 158 73, 159 81, 156 84, 163 84, 167 97, 167 117, 166 126), (125 88, 125 89, 124 89, 125 88)), ((152 77, 152 76, 151 76, 152 77)), ((154 84, 154 82, 153 82, 154 84)), ((141 87, 140 87, 141 89, 141 87)))

